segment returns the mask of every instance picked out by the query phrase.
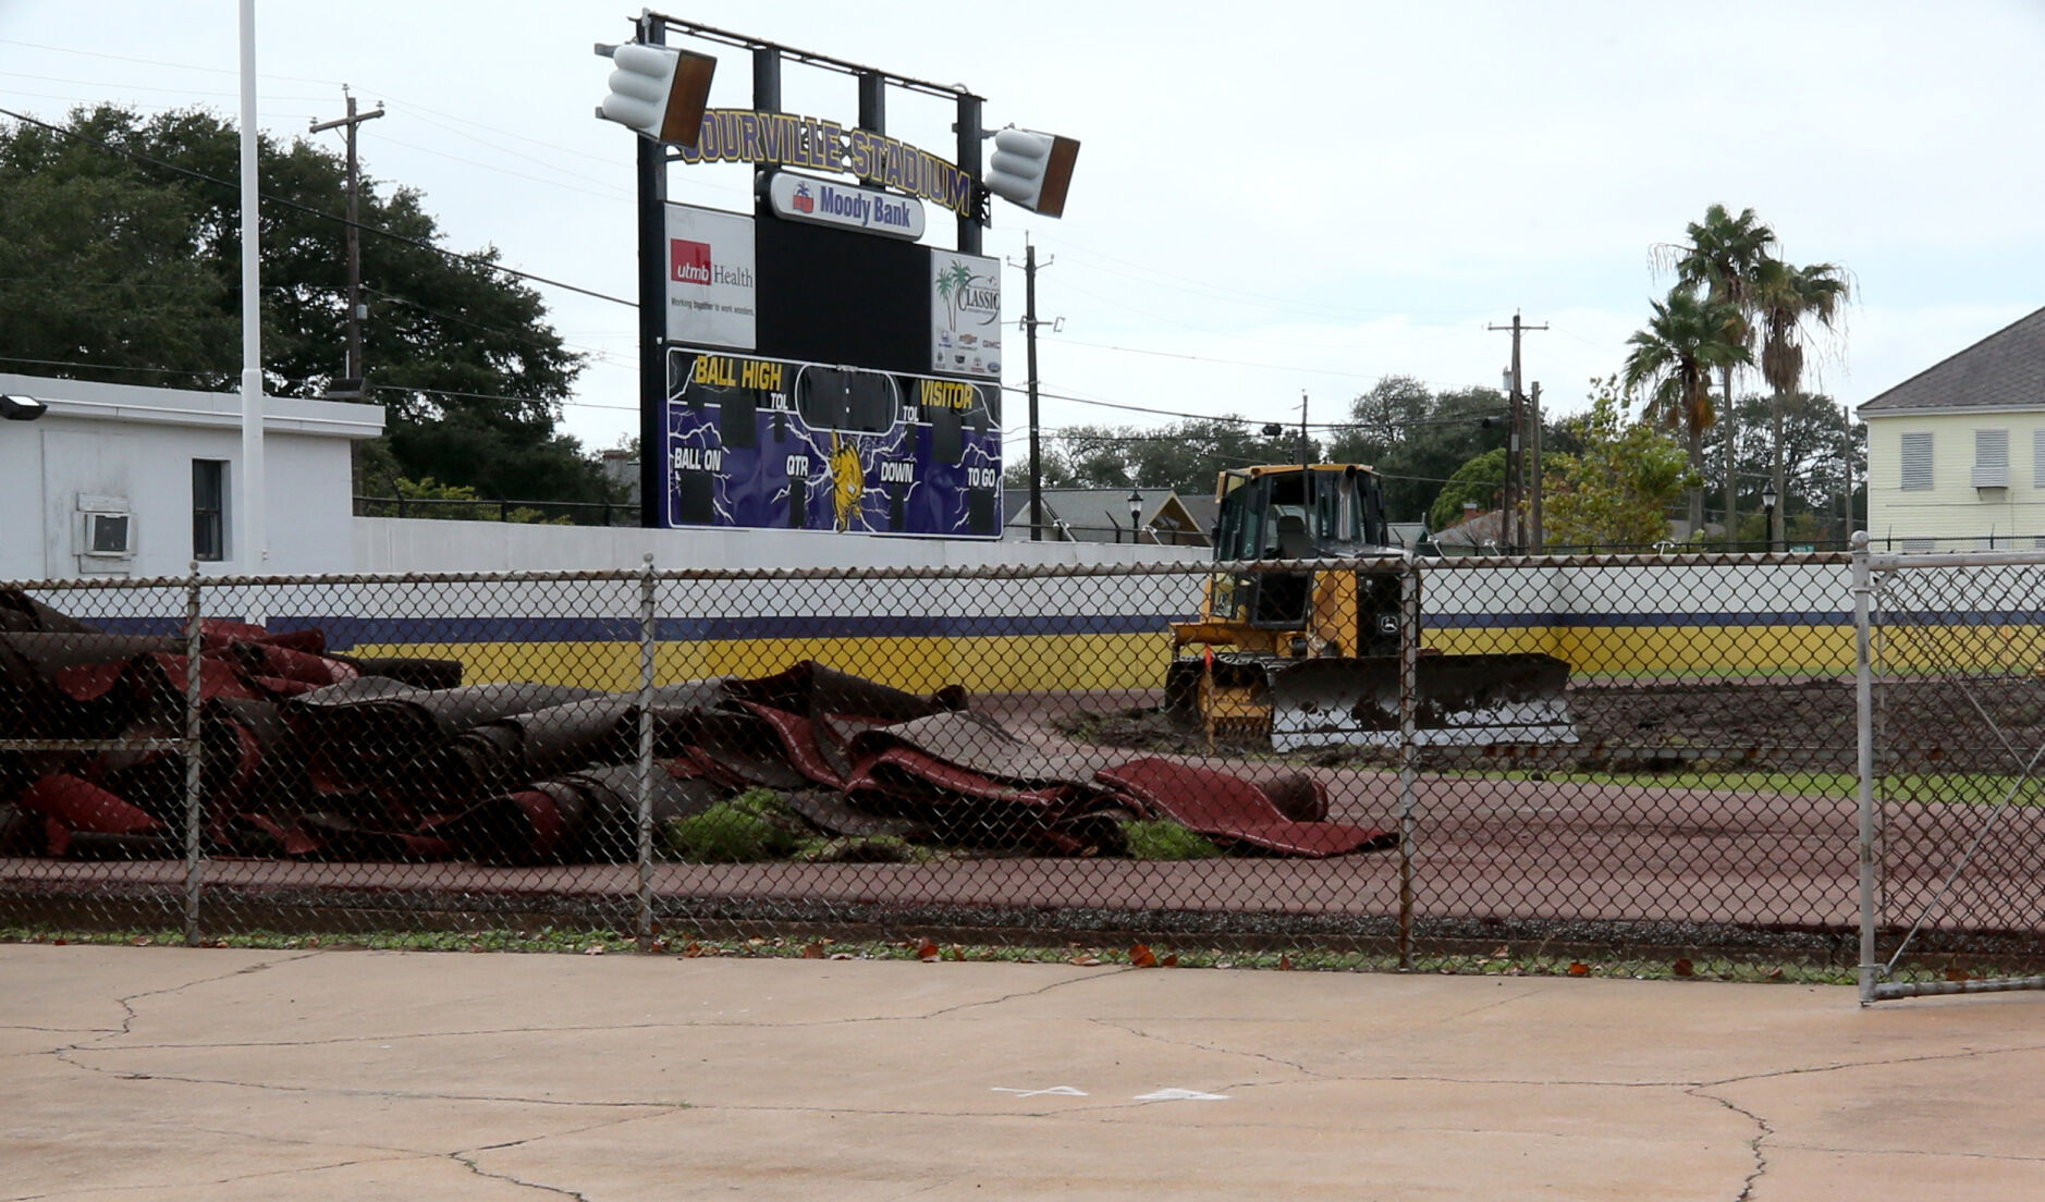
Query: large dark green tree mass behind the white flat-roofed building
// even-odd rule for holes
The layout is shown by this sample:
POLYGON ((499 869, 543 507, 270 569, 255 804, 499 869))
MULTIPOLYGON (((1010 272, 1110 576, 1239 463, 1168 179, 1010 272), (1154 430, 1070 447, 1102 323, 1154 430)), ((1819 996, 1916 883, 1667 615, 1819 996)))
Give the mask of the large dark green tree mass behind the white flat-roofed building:
MULTIPOLYGON (((67 129, 78 137, 0 125, 0 356, 76 378, 235 386, 235 127, 202 110, 143 121, 102 104, 72 112, 67 129)), ((327 215, 346 209, 346 164, 266 137, 260 172, 264 386, 319 397, 344 368, 344 225, 327 215)), ((483 497, 609 499, 601 468, 554 429, 583 360, 540 296, 489 268, 495 249, 438 249, 415 190, 364 178, 360 221, 366 380, 399 474, 483 497)))

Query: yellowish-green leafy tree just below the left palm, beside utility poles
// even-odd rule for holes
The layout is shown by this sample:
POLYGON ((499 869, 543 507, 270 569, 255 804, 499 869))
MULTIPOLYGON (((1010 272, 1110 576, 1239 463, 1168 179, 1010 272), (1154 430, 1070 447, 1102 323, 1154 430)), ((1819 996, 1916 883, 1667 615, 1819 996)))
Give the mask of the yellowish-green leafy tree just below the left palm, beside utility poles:
POLYGON ((1646 546, 1669 536, 1669 507, 1693 487, 1689 456, 1648 421, 1632 421, 1614 376, 1591 380, 1591 409, 1571 419, 1579 450, 1544 472, 1550 546, 1646 546))

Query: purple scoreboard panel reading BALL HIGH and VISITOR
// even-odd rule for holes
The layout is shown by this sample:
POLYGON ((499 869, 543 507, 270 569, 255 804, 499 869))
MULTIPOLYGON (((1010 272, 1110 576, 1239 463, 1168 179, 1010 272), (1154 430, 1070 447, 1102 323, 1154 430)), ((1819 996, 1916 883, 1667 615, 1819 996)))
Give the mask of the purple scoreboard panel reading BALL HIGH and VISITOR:
POLYGON ((669 348, 663 525, 1000 538, 996 382, 669 348))

